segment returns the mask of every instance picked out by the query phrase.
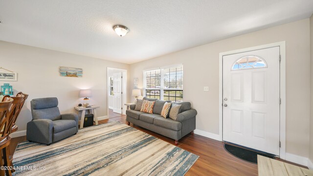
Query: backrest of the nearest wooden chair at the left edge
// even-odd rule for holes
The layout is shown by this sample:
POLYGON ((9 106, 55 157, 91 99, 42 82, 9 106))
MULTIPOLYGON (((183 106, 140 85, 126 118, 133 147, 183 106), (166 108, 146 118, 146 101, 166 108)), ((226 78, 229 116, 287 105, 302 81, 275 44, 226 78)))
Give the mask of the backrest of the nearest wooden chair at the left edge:
POLYGON ((9 135, 9 119, 6 115, 6 113, 9 111, 13 99, 9 96, 5 96, 2 99, 2 102, 0 102, 0 143, 3 142, 7 136, 9 135))

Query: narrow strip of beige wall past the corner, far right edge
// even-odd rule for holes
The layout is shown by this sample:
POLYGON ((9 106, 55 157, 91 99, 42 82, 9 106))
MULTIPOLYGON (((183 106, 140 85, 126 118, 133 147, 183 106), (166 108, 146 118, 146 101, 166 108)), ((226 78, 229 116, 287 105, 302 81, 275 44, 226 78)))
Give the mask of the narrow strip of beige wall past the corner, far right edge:
MULTIPOLYGON (((310 120, 310 156, 313 163, 313 15, 310 18, 310 39, 311 39, 311 120, 310 120)), ((313 167, 313 166, 311 166, 313 167)), ((313 168, 310 168, 313 169, 313 168)))

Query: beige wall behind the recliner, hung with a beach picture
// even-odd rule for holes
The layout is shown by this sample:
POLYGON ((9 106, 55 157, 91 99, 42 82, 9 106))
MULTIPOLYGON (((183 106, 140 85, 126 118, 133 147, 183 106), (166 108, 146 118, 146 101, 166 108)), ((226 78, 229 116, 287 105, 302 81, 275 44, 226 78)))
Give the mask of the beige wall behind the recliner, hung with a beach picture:
MULTIPOLYGON (((129 69, 129 65, 59 51, 0 41, 0 66, 18 72, 18 81, 0 81, 29 94, 17 120, 19 131, 32 119, 30 100, 57 97, 61 113, 74 112, 82 103, 80 89, 92 89, 90 103, 99 105, 99 116, 107 115, 107 67, 129 69), (61 77, 59 66, 83 68, 82 78, 61 77)), ((2 71, 2 70, 1 70, 2 71)))

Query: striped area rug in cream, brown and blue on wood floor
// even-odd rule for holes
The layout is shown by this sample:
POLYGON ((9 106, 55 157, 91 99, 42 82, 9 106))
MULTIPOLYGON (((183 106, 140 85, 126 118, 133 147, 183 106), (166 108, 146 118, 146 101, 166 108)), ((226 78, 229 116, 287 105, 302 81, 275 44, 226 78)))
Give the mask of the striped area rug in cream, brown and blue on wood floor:
POLYGON ((81 129, 50 146, 20 143, 13 175, 183 176, 198 157, 116 121, 81 129))

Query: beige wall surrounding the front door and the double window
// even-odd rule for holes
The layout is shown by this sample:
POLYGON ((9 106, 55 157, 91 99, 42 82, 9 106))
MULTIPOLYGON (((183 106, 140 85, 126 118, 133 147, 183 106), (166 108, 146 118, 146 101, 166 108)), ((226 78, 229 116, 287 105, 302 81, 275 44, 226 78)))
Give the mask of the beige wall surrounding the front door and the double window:
MULTIPOLYGON (((209 34, 208 34, 209 35, 209 34)), ((308 157, 310 122, 310 20, 271 27, 226 40, 182 50, 132 64, 129 99, 134 77, 142 88, 142 71, 183 64, 184 101, 198 110, 197 129, 219 133, 219 53, 286 41, 287 144, 288 153, 308 157), (209 91, 204 92, 203 86, 209 91)))

